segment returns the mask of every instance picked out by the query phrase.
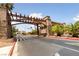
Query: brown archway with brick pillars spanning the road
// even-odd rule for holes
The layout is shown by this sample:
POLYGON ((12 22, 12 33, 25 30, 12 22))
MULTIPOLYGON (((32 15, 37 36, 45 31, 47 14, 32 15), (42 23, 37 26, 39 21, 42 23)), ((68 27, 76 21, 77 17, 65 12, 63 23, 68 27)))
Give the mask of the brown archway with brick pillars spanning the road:
POLYGON ((49 36, 48 28, 54 24, 48 20, 48 17, 35 18, 13 13, 6 7, 6 4, 0 4, 0 38, 10 38, 12 36, 11 21, 34 24, 37 26, 37 34, 44 34, 45 36, 49 36))

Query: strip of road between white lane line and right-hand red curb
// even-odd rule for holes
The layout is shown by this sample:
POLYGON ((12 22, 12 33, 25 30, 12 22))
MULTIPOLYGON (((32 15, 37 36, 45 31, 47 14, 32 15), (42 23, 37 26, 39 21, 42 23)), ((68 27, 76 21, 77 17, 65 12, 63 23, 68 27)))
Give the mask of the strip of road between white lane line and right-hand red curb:
POLYGON ((42 37, 40 39, 42 41, 49 42, 50 44, 54 43, 54 44, 57 44, 60 46, 64 46, 64 47, 79 51, 79 46, 67 44, 67 43, 79 43, 78 40, 73 40, 73 41, 72 40, 59 40, 59 39, 53 39, 53 38, 52 39, 50 39, 50 38, 43 38, 42 39, 42 37))

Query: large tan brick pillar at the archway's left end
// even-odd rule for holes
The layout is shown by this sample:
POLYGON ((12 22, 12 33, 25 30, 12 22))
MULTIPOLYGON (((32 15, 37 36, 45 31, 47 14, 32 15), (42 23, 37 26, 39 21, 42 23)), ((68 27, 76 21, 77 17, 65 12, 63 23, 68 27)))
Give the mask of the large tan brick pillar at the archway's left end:
POLYGON ((11 37, 11 22, 7 8, 0 8, 0 38, 11 37))

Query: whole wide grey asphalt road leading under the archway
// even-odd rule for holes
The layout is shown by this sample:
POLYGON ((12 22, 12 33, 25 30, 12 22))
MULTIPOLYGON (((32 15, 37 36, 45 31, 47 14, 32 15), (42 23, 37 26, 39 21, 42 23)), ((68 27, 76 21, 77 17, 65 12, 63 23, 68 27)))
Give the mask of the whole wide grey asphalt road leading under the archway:
MULTIPOLYGON (((55 38, 56 39, 56 38, 55 38)), ((79 41, 55 40, 37 36, 17 35, 18 56, 79 56, 79 46, 66 43, 79 41)))

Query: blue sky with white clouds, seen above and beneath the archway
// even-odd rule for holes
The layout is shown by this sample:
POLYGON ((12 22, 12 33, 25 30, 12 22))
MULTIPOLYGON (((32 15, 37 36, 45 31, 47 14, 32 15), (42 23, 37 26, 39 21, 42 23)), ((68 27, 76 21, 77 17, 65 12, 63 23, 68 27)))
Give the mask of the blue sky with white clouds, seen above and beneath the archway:
MULTIPOLYGON (((38 18, 50 16, 52 21, 66 24, 79 20, 78 3, 15 3, 13 12, 38 18)), ((27 32, 32 30, 30 27, 35 28, 31 24, 16 25, 19 30, 27 32)))

